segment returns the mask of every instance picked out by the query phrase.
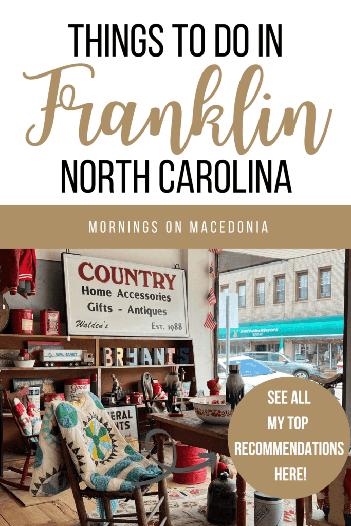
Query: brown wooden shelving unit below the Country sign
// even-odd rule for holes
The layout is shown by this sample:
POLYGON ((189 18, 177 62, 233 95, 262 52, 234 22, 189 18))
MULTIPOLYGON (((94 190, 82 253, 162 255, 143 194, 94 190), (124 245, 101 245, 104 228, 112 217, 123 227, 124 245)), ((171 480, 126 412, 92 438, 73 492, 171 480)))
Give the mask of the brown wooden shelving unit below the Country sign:
MULTIPOLYGON (((93 337, 93 336, 39 336, 39 335, 12 335, 0 334, 0 349, 26 349, 27 341, 62 341, 65 349, 86 349, 92 353, 95 359, 95 365, 91 367, 77 366, 77 367, 8 367, 0 368, 0 382, 7 390, 11 389, 11 380, 13 378, 55 378, 56 392, 64 392, 64 381, 67 378, 90 378, 91 373, 97 373, 98 381, 98 395, 101 396, 105 392, 111 391, 112 379, 114 374, 124 391, 137 391, 138 380, 144 372, 151 373, 153 378, 158 382, 164 383, 167 373, 169 372, 169 365, 137 365, 137 366, 112 366, 104 367, 100 361, 101 347, 122 347, 126 348, 142 348, 146 347, 150 351, 153 347, 168 347, 168 348, 189 348, 189 362, 185 367, 185 381, 192 381, 190 388, 190 396, 194 396, 197 392, 195 363, 194 363, 194 349, 192 339, 160 339, 160 338, 125 338, 125 337, 93 337), (44 374, 45 371, 45 374, 44 374), (69 371, 69 373, 67 372, 69 371)), ((125 358, 124 358, 125 359, 125 358)), ((130 360, 129 360, 130 361, 130 360)), ((138 408, 139 420, 146 420, 145 407, 138 408), (145 413, 145 414, 144 414, 145 413)), ((3 449, 22 448, 22 442, 19 438, 17 428, 11 415, 3 414, 3 449)))

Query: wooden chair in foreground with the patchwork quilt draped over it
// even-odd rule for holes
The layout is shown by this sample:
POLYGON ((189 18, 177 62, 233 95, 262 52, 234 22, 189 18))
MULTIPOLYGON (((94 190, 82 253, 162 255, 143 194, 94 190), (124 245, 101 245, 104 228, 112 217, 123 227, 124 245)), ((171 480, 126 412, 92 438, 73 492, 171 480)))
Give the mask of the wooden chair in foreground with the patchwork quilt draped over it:
POLYGON ((156 514, 159 515, 159 526, 171 526, 171 520, 169 517, 167 484, 165 479, 162 479, 158 482, 158 491, 149 491, 149 489, 153 485, 152 483, 149 485, 136 487, 134 491, 97 491, 90 488, 81 489, 78 483, 77 471, 72 461, 71 454, 69 454, 66 442, 62 437, 61 431, 59 431, 59 437, 61 439, 62 452, 65 459, 69 482, 71 483, 74 502, 77 508, 79 523, 81 524, 81 526, 89 526, 89 522, 102 522, 102 519, 88 519, 83 497, 87 497, 89 499, 93 498, 103 500, 106 523, 129 523, 138 524, 138 526, 148 526, 148 522, 156 514), (158 495, 159 498, 155 508, 148 515, 146 514, 145 504, 143 500, 143 497, 146 495, 158 495), (135 513, 120 513, 118 515, 113 515, 111 499, 134 500, 135 513), (131 519, 132 517, 135 518, 131 519))

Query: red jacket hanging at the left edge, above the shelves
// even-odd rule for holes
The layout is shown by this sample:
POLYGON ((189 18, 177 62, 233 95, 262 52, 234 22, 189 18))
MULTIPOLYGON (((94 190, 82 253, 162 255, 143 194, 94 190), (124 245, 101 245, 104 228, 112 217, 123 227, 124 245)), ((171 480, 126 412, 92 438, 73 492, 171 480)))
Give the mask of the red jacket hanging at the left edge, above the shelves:
POLYGON ((0 249, 0 293, 24 298, 35 296, 36 257, 34 248, 0 249))

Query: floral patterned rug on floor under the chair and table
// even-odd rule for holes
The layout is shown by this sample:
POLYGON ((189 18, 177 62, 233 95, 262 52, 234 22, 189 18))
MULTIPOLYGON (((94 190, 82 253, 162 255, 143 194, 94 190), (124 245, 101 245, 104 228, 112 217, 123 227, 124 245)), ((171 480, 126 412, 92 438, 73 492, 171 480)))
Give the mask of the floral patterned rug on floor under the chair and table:
MULTIPOLYGON (((246 491, 246 524, 254 525, 254 489, 246 491)), ((172 526, 207 526, 206 500, 207 488, 187 487, 174 488, 168 491, 169 508, 171 509, 172 526)), ((153 497, 145 498, 146 512, 149 513, 157 503, 153 497)), ((135 509, 134 502, 121 503, 116 513, 132 513, 135 509), (122 511, 123 510, 123 511, 122 511)), ((295 500, 284 500, 284 522, 296 524, 295 500)), ((154 517, 149 526, 158 523, 154 517)), ((93 523, 92 523, 93 524, 93 523)))

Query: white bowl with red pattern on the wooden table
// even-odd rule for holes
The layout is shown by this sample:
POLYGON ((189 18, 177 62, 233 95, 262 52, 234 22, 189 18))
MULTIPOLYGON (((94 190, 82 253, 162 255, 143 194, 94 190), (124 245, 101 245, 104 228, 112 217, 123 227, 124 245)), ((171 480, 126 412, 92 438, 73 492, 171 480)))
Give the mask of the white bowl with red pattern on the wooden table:
POLYGON ((222 424, 228 426, 232 416, 230 403, 225 400, 225 395, 199 396, 190 398, 197 416, 209 424, 222 424))

